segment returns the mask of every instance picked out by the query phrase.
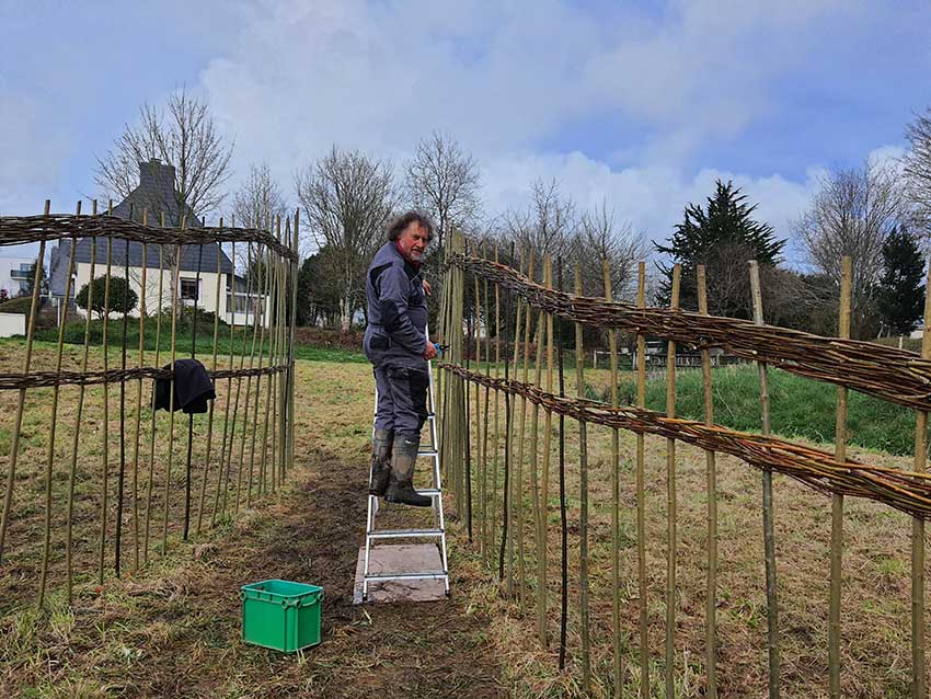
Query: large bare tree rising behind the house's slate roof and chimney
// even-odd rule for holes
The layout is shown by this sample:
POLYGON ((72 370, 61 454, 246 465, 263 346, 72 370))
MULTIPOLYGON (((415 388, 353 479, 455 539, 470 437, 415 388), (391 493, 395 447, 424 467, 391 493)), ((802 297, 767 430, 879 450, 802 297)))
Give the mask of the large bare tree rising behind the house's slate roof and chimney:
POLYGON ((107 196, 123 199, 137 187, 140 164, 172 165, 173 191, 159 190, 159 200, 146 204, 179 226, 188 209, 200 218, 222 202, 232 148, 217 131, 209 106, 182 88, 169 96, 166 110, 142 103, 139 123, 125 125, 114 148, 97 158, 95 180, 107 196))

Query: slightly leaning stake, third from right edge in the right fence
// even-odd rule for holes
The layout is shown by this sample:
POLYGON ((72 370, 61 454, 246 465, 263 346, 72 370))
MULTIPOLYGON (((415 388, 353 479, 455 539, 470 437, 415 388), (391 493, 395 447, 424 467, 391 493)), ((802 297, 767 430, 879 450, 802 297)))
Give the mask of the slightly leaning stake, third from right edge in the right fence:
MULTIPOLYGON (((754 322, 763 324, 763 303, 760 293, 760 268, 756 260, 750 261, 750 290, 754 297, 754 322)), ((762 413, 762 434, 769 436, 769 377, 765 362, 757 363, 760 375, 760 410, 762 413)), ((775 580, 775 539, 772 524, 772 471, 762 472, 763 500, 763 551, 766 558, 766 599, 767 599, 767 632, 769 648, 769 697, 780 696, 779 680, 779 612, 777 606, 775 580)))

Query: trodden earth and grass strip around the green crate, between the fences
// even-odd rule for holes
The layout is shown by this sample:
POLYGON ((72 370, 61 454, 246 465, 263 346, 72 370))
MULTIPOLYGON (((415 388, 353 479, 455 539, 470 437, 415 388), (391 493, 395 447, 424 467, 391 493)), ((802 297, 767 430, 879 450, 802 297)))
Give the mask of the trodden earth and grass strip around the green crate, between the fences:
POLYGON ((194 560, 111 581, 78 601, 64 633, 36 622, 27 640, 44 657, 5 658, 14 662, 4 663, 0 689, 165 699, 505 696, 485 642, 489 620, 456 596, 353 606, 365 469, 360 459, 345 463, 323 450, 306 452, 303 461, 276 502, 196 546, 194 560), (268 577, 323 586, 321 645, 284 655, 240 641, 238 589, 268 577))

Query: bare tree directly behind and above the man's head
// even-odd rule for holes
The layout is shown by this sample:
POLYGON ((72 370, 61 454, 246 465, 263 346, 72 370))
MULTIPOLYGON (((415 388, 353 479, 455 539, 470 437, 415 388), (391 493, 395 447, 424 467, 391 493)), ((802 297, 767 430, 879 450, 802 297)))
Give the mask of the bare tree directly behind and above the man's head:
POLYGON ((434 131, 417 142, 405 168, 404 195, 436 222, 432 248, 441 251, 448 231, 478 217, 479 183, 479 167, 449 134, 434 131))

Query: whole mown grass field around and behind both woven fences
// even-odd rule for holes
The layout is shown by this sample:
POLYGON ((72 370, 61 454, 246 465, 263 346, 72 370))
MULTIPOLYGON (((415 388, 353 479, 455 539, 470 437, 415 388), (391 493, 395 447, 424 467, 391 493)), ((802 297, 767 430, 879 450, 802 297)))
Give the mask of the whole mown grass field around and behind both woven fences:
MULTIPOLYGON (((0 347, 3 354, 0 370, 19 370, 22 344, 12 341, 0 347)), ((79 360, 78 351, 74 346, 68 348, 66 366, 73 367, 79 360)), ((53 350, 41 344, 34 367, 48 368, 53 359, 53 350)), ((100 351, 94 350, 93 363, 97 366, 100 362, 100 351)), ((600 370, 588 371, 586 379, 590 390, 604 390, 606 375, 600 370)), ((560 673, 553 642, 559 623, 560 564, 555 481, 548 503, 551 640, 548 648, 542 648, 537 640, 532 607, 536 565, 526 468, 521 519, 526 580, 521 585, 519 566, 515 563, 512 569, 515 596, 508 594, 506 581, 499 584, 496 571, 483 564, 478 542, 469 543, 463 527, 464 513, 455 512, 448 495, 447 505, 452 511, 452 599, 414 609, 353 607, 352 576, 365 525, 371 373, 364 364, 343 359, 300 360, 298 380, 297 462, 292 465, 286 488, 256 501, 252 507, 243 505, 239 518, 221 519, 212 530, 205 527, 188 542, 180 540, 177 520, 173 519, 164 554, 153 548, 147 566, 120 578, 107 572, 103 586, 95 580, 103 396, 99 387, 88 389, 85 421, 89 433, 88 438, 82 439, 87 451, 81 455, 78 481, 82 503, 78 508, 78 522, 83 534, 77 562, 82 577, 76 588, 74 608, 69 609, 60 592, 60 561, 56 563, 50 578, 55 593, 48 608, 42 612, 34 607, 39 548, 36 537, 41 535, 44 518, 41 473, 50 389, 27 393, 14 517, 7 560, 0 568, 0 606, 4 612, 0 619, 0 686, 5 694, 88 698, 277 697, 287 692, 327 698, 581 696, 577 607, 581 501, 575 423, 566 422, 571 575, 568 667, 560 673), (299 656, 281 656, 245 646, 239 640, 238 587, 278 576, 323 584, 325 588, 323 643, 299 656), (521 589, 525 591, 524 604, 521 589)), ((680 381, 688 380, 687 373, 682 373, 680 381)), ((734 381, 737 385, 745 379, 734 381)), ((662 385, 662 379, 658 382, 662 385)), ((722 391, 727 385, 726 379, 717 377, 715 382, 722 391)), ((574 390, 572 383, 570 381, 567 387, 570 391, 574 390)), ((128 388, 127 394, 135 401, 135 386, 128 388)), ((746 411, 751 416, 758 415, 756 386, 746 390, 750 393, 746 411)), ((67 482, 62 475, 67 457, 64 445, 69 444, 68 425, 73 421, 73 388, 62 389, 59 411, 61 432, 57 442, 62 445, 62 454, 56 457, 53 479, 56 502, 53 545, 57 557, 61 555, 59 496, 67 482)), ((118 390, 111 389, 110 397, 111 452, 118 448, 114 434, 118 397, 114 393, 118 390)), ((723 421, 727 414, 724 404, 731 399, 729 394, 722 396, 725 397, 716 408, 723 421)), ((221 390, 218 410, 225 400, 226 390, 221 390)), ((15 392, 0 393, 0 448, 8 454, 15 392)), ((681 405, 685 413, 688 405, 685 394, 681 405)), ((812 403, 807 405, 814 413, 812 403)), ((825 405, 832 415, 832 404, 825 405)), ((519 408, 517 410, 519 417, 519 408)), ((186 421, 182 424, 186 431, 186 421)), ((203 431, 203 423, 195 428, 203 431)), ((196 434, 203 436, 204 433, 196 434)), ((628 640, 624 657, 629 696, 633 696, 639 681, 634 672, 639 654, 639 600, 633 445, 633 435, 621 433, 621 592, 623 631, 628 640)), ((664 439, 648 437, 646 446, 648 652, 653 669, 651 692, 659 697, 664 669, 666 445, 664 439)), ((203 474, 203 439, 196 440, 195 447, 197 485, 203 474)), ((555 440, 553 449, 555 457, 555 440)), ((872 449, 852 448, 850 456, 900 468, 910 465, 907 457, 872 449)), ((175 456, 175 465, 177 458, 175 456)), ((157 462, 162 461, 157 459, 157 462)), ((589 428, 589 465, 594 696, 607 697, 611 692, 608 429, 589 428)), ((159 468, 156 479, 163 475, 159 468)), ((480 469, 480 465, 473 463, 475 478, 480 469)), ((181 471, 183 469, 176 468, 173 475, 171 488, 175 496, 183 488, 183 482, 177 480, 181 471)), ((679 574, 675 674, 681 696, 700 697, 703 690, 706 557, 704 455, 678 445, 677 474, 679 574)), ((112 472, 111 492, 115 492, 114 478, 112 472)), ((774 482, 783 696, 826 697, 830 500, 783 477, 777 475, 774 482)), ((476 488, 473 493, 478 493, 476 488)), ((719 457, 719 501, 721 691, 727 697, 765 696, 766 605, 759 472, 731 457, 719 457)), ((110 506, 114 506, 112 501, 110 506)), ((395 512, 394 516, 409 514, 395 512)), ((111 512, 111 523, 113 515, 111 512)), ((129 527, 130 514, 126 516, 129 527)), ((476 531, 479 524, 475 523, 476 531)), ((842 599, 844 696, 908 696, 909 534, 908 517, 875 503, 848 499, 842 599)), ((127 540, 124 555, 126 560, 131 559, 131 538, 127 540)), ((108 553, 107 565, 110 571, 112 553, 108 553)), ((928 573, 931 574, 931 569, 928 573)))

